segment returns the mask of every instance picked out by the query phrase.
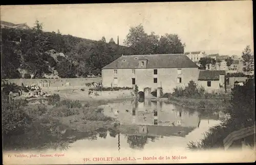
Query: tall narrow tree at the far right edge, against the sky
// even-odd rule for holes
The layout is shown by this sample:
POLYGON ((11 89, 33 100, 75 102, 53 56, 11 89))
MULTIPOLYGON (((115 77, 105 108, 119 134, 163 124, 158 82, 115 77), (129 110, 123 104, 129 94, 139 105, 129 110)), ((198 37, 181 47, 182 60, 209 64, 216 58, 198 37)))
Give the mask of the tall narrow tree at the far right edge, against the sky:
POLYGON ((247 45, 242 52, 242 63, 243 63, 243 71, 247 74, 253 73, 254 71, 254 57, 251 53, 250 46, 247 45))

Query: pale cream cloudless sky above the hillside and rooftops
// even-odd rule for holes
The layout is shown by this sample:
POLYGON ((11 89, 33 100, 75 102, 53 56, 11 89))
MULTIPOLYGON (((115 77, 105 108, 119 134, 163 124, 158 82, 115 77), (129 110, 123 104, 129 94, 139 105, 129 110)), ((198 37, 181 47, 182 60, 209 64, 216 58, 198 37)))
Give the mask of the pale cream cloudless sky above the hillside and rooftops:
POLYGON ((185 51, 237 54, 253 50, 252 1, 1 6, 1 20, 44 24, 44 31, 123 45, 131 26, 178 34, 185 51))

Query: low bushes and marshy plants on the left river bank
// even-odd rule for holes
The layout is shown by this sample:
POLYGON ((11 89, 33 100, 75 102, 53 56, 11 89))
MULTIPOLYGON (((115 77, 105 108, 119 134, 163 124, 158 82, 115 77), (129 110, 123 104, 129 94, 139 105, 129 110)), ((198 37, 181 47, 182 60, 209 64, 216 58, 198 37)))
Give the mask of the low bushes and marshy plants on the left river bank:
MULTIPOLYGON (((4 85, 5 90, 17 91, 20 88, 15 84, 4 85)), ((65 138, 71 141, 74 139, 71 131, 80 132, 83 138, 85 135, 81 132, 93 132, 99 128, 117 129, 118 126, 118 121, 104 116, 102 109, 97 108, 105 104, 104 101, 61 100, 58 94, 54 94, 47 99, 17 98, 10 102, 7 91, 3 92, 2 97, 4 149, 44 147, 64 141, 65 138), (70 137, 65 137, 67 135, 70 137), (40 143, 35 143, 35 139, 40 143)))

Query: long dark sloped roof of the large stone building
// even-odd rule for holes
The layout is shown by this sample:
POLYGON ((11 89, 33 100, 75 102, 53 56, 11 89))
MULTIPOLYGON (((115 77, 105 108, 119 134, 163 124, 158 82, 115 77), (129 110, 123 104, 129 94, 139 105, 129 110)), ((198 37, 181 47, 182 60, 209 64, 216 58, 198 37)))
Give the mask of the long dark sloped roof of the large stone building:
POLYGON ((134 69, 140 68, 138 60, 146 58, 146 68, 198 68, 184 54, 149 54, 149 55, 133 55, 121 56, 102 69, 134 69))

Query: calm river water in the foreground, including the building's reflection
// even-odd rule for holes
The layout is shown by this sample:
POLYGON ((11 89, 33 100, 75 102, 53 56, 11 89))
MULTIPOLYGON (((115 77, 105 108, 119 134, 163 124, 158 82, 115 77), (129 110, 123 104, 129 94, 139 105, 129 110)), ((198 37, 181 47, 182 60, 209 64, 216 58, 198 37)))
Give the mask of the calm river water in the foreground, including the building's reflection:
POLYGON ((55 147, 47 144, 44 150, 188 150, 187 144, 190 141, 201 140, 205 131, 220 123, 218 118, 203 117, 197 111, 151 99, 120 100, 98 108, 102 109, 104 115, 120 121, 120 129, 99 128, 94 132, 70 132, 69 135, 75 136, 75 139, 60 142, 55 147))

